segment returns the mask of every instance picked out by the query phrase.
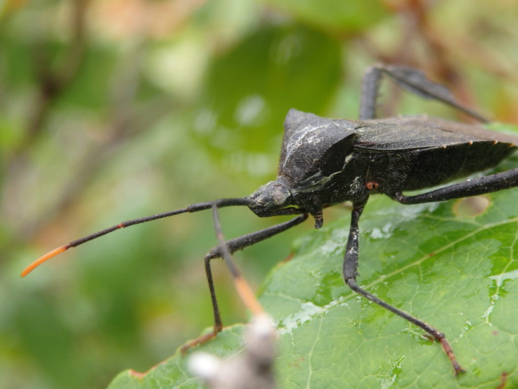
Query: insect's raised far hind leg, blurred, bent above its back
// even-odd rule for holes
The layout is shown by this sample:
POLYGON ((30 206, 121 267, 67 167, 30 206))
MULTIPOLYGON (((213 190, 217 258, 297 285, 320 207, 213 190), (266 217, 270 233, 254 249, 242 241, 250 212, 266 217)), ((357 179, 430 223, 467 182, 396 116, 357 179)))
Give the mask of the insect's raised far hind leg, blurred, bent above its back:
POLYGON ((472 116, 481 122, 488 122, 488 120, 483 116, 457 103, 447 87, 431 81, 423 72, 407 66, 384 64, 370 66, 365 72, 360 102, 360 120, 376 118, 378 91, 383 74, 392 78, 397 85, 411 93, 425 99, 438 100, 453 108, 461 110, 465 114, 472 116))

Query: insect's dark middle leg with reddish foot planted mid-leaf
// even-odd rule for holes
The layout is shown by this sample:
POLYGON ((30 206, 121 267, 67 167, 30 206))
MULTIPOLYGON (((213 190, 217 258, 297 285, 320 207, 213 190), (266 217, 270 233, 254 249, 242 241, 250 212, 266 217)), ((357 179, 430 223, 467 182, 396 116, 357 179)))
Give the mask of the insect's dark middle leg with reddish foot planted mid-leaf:
POLYGON ((353 211, 351 214, 351 227, 349 229, 349 239, 347 240, 347 248, 346 248, 346 255, 343 261, 343 279, 345 280, 346 284, 356 293, 366 297, 372 302, 377 303, 378 305, 381 305, 381 307, 395 313, 398 316, 401 316, 402 318, 408 320, 410 323, 415 324, 416 326, 421 327, 424 329, 428 334, 433 336, 436 340, 438 340, 442 348, 444 349, 444 352, 448 355, 448 358, 450 358, 453 369, 455 370, 455 375, 457 375, 459 372, 464 371, 461 366, 457 363, 457 360, 455 359, 455 355, 453 354, 452 348, 450 346, 450 343, 446 340, 444 337, 444 334, 437 330, 436 328, 430 326, 429 324, 421 321, 420 319, 404 312, 396 307, 393 307, 389 303, 386 303, 385 301, 379 299, 378 297, 370 294, 365 289, 362 289, 358 286, 356 283, 356 276, 358 275, 357 268, 358 268, 358 247, 359 247, 359 230, 358 230, 358 220, 359 217, 362 215, 363 209, 364 209, 365 203, 361 204, 353 204, 353 211))

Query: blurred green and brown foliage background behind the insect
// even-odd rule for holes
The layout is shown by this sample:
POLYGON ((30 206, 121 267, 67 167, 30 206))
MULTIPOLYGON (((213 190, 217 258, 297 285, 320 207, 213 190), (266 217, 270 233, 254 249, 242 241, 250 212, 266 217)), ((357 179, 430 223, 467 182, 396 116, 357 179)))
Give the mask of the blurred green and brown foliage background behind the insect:
MULTIPOLYGON (((376 61, 421 68, 516 123, 516 25, 515 0, 0 1, 0 387, 103 388, 212 323, 208 212, 115 232, 20 279, 35 258, 122 220, 249 195, 276 176, 287 110, 357 118, 376 61)), ((381 115, 466 120, 383 91, 381 115)), ((276 223, 221 214, 227 237, 276 223)), ((311 227, 236 255, 254 287, 311 227)), ((246 321, 213 268, 224 323, 246 321)))

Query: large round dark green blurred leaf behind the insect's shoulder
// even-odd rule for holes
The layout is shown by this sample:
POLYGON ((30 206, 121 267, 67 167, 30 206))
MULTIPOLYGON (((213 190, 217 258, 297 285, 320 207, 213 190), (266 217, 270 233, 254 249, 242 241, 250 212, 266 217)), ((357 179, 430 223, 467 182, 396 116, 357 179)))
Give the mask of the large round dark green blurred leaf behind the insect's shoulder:
POLYGON ((263 27, 211 64, 198 133, 222 149, 264 151, 290 108, 322 113, 340 77, 338 40, 299 25, 263 27))

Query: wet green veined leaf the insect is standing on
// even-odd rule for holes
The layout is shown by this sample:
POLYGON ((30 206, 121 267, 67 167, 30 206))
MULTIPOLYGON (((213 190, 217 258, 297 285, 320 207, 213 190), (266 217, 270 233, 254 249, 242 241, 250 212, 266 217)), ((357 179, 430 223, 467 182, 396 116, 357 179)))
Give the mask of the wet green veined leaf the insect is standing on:
MULTIPOLYGON (((459 216, 466 200, 405 206, 380 196, 360 221, 358 283, 443 331, 466 373, 455 378, 437 342, 344 286, 343 217, 299 239, 262 288, 279 327, 278 386, 493 389, 503 376, 506 387, 518 385, 518 190, 484 198, 481 213, 459 216)), ((227 328, 200 349, 234 354, 241 332, 227 328)), ((176 355, 139 379, 123 372, 109 388, 202 387, 185 359, 176 355)))

